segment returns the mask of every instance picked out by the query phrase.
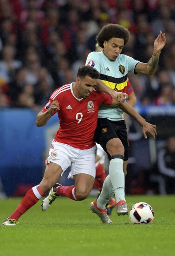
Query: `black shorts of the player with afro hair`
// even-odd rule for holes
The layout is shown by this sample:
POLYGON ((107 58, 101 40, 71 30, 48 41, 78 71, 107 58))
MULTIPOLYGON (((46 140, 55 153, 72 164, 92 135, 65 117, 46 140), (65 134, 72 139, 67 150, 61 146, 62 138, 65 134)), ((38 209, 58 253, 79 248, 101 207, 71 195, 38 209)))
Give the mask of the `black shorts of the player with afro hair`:
MULTIPOLYGON (((114 138, 119 138, 122 141, 124 147, 124 161, 127 161, 129 141, 125 121, 111 121, 107 118, 98 118, 95 141, 102 146, 107 154, 106 143, 114 138)), ((108 157, 110 159, 109 154, 108 157)))

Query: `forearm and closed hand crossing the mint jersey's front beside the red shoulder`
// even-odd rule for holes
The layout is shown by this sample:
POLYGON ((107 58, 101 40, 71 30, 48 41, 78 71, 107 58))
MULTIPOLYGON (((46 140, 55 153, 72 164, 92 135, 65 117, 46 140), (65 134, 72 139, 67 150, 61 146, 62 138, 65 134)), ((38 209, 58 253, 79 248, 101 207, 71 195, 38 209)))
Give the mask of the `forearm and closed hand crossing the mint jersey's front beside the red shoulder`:
POLYGON ((98 92, 109 94, 113 99, 116 99, 117 102, 124 102, 125 99, 128 99, 128 94, 116 92, 115 90, 106 86, 100 79, 97 79, 96 89, 98 92))

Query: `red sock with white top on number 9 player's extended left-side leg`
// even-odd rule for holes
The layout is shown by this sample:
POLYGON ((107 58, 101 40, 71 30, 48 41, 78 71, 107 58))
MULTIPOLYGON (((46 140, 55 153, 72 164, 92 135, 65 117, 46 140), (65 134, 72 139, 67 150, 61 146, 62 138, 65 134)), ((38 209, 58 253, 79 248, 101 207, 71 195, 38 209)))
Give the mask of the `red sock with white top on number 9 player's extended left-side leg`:
POLYGON ((19 217, 30 209, 36 202, 38 202, 39 198, 44 195, 45 194, 42 192, 39 186, 29 189, 22 201, 19 203, 18 207, 14 210, 13 214, 8 217, 8 219, 15 219, 18 221, 19 217))

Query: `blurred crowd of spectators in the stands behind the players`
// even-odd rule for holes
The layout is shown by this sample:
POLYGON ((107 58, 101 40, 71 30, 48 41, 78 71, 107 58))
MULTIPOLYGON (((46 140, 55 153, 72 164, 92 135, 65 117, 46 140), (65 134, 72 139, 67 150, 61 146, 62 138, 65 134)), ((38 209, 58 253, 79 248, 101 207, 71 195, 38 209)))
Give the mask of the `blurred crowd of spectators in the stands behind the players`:
POLYGON ((143 62, 166 33, 156 74, 129 77, 137 104, 175 105, 174 0, 0 0, 0 107, 39 110, 75 81, 107 23, 129 29, 123 53, 143 62))

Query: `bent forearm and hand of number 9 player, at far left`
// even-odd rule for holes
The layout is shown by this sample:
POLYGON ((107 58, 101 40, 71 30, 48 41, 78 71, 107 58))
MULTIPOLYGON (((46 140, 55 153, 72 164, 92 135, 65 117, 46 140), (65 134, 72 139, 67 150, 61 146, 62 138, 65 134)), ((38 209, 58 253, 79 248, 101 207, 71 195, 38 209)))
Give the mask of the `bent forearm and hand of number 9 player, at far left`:
POLYGON ((58 101, 53 101, 47 111, 40 111, 37 115, 36 125, 38 127, 45 126, 52 114, 59 110, 58 101))

